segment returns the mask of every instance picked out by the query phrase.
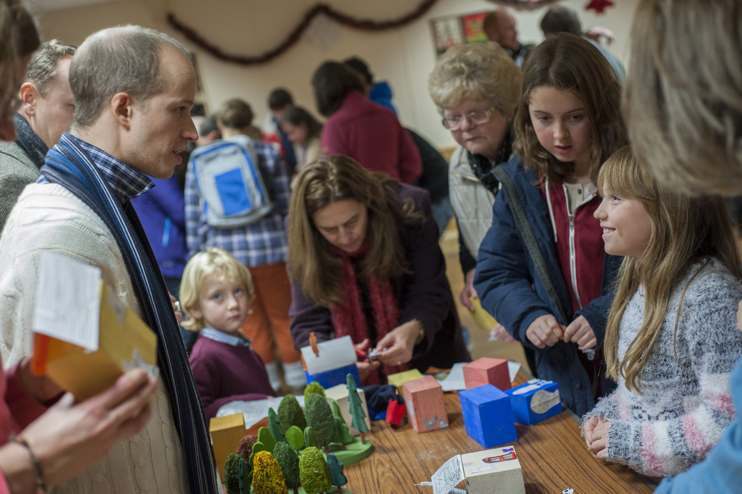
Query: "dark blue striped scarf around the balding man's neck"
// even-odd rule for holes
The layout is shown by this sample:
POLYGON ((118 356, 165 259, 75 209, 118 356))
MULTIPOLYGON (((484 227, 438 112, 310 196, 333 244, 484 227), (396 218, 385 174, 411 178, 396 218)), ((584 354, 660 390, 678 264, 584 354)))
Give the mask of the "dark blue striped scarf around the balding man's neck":
POLYGON ((70 134, 63 134, 59 144, 50 149, 42 175, 93 209, 116 238, 145 322, 158 337, 157 364, 183 445, 191 493, 217 494, 214 455, 201 399, 165 281, 134 207, 116 198, 102 171, 70 134))

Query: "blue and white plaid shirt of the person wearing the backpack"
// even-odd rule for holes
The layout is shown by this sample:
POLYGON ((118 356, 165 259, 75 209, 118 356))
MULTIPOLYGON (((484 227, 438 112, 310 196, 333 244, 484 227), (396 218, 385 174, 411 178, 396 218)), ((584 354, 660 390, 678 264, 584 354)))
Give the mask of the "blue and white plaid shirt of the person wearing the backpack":
POLYGON ((255 223, 237 228, 216 228, 206 223, 200 207, 193 166, 185 173, 185 231, 188 255, 206 247, 224 249, 247 267, 285 262, 289 252, 283 221, 289 213, 289 178, 278 152, 267 143, 255 142, 255 154, 265 175, 266 189, 273 201, 273 210, 255 223))

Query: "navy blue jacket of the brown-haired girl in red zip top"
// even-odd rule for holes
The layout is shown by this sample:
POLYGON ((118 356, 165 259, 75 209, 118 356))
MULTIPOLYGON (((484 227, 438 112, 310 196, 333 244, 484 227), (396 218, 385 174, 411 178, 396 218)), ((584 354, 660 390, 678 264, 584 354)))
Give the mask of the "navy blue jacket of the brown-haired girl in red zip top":
MULTIPOLYGON (((526 337, 528 326, 545 314, 568 325, 577 316, 585 316, 595 332, 597 348, 603 347, 605 324, 613 301, 610 288, 623 258, 605 256, 603 261, 603 296, 594 299, 585 308, 572 313, 567 283, 559 264, 557 245, 549 219, 548 205, 538 186, 539 176, 523 168, 518 155, 500 165, 510 175, 518 190, 528 221, 536 236, 542 256, 548 265, 551 282, 559 294, 562 311, 568 320, 562 320, 559 309, 548 296, 536 274, 533 260, 516 227, 508 197, 503 189, 493 206, 492 227, 479 247, 474 275, 474 288, 482 307, 508 330, 513 338, 536 352, 536 373, 540 379, 559 383, 562 403, 577 415, 585 415, 595 405, 590 378, 580 363, 576 343, 557 342, 553 347, 537 348, 526 337)), ((603 380, 603 394, 613 391, 616 384, 603 380)))

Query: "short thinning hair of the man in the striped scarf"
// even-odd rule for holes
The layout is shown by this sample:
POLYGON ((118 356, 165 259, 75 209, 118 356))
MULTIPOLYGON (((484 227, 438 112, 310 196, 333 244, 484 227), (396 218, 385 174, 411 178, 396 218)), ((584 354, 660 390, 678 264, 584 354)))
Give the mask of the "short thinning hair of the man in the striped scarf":
POLYGON ((164 89, 160 56, 173 50, 193 56, 165 33, 141 26, 99 30, 80 45, 70 65, 70 86, 75 99, 73 128, 91 126, 114 94, 126 93, 144 102, 164 89))

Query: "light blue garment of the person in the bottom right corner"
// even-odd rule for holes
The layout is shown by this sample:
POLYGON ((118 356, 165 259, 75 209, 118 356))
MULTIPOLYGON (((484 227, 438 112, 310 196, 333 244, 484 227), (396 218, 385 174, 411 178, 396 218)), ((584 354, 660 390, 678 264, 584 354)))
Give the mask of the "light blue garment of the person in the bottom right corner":
MULTIPOLYGON (((732 400, 742 410, 742 360, 729 378, 732 400)), ((719 443, 706 459, 687 472, 666 478, 654 494, 733 494, 742 492, 742 419, 737 417, 724 430, 719 443)))

